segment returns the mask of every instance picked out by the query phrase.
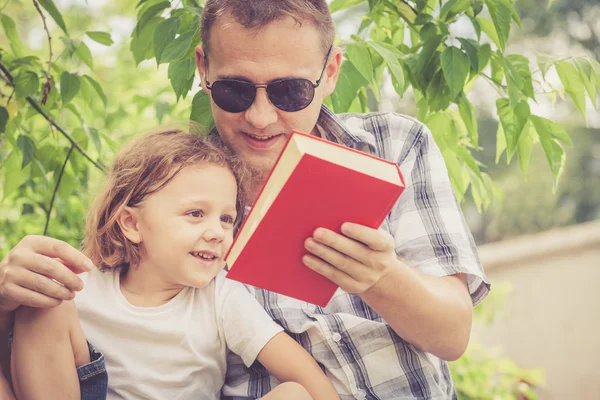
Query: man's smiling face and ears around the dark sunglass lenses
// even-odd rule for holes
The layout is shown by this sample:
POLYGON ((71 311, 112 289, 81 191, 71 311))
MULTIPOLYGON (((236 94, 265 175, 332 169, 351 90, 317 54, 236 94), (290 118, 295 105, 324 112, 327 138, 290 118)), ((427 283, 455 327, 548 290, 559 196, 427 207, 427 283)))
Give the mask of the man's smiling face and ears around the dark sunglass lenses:
MULTIPOLYGON (((215 22, 210 40, 208 66, 204 64, 202 48, 196 48, 202 87, 209 96, 207 80, 211 84, 224 78, 266 84, 282 78, 306 78, 315 83, 325 63, 326 52, 319 31, 310 22, 299 26, 291 18, 256 31, 243 28, 225 15, 215 22)), ((292 129, 316 134, 321 104, 335 88, 340 63, 341 50, 334 48, 312 103, 301 111, 278 109, 271 104, 264 88, 257 90, 250 108, 239 113, 222 110, 211 97, 221 138, 266 176, 292 129)))

